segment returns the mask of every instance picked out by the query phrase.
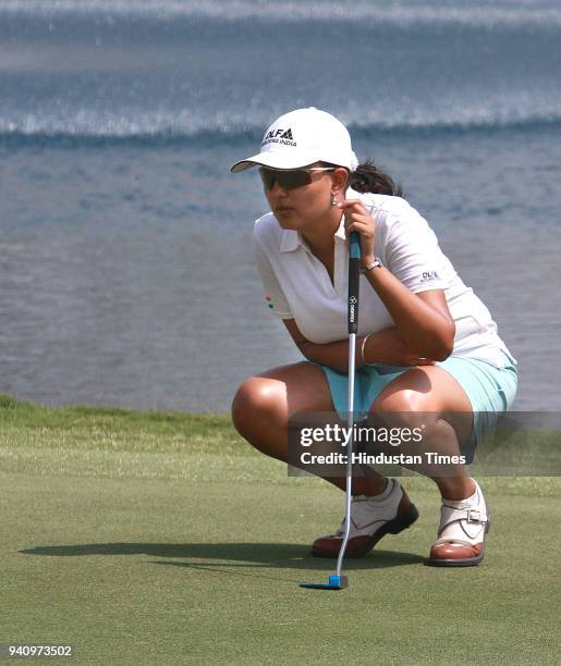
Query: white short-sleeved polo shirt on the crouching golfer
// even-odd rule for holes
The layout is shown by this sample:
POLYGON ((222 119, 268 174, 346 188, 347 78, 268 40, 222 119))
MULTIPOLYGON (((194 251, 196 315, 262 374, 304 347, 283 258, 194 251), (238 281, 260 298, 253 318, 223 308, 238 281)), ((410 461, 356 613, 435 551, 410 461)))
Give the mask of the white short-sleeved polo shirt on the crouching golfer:
MULTIPOLYGON (((359 194, 376 219, 376 255, 411 292, 443 289, 455 322, 453 356, 468 356, 503 367, 504 351, 497 324, 481 300, 455 272, 427 221, 401 197, 359 194)), ((334 235, 333 284, 326 267, 313 255, 300 232, 283 230, 272 213, 257 220, 253 246, 268 309, 280 319, 294 319, 302 334, 324 344, 347 337, 346 299, 349 245, 344 224, 334 235)), ((361 276, 358 335, 395 325, 368 280, 361 276)))

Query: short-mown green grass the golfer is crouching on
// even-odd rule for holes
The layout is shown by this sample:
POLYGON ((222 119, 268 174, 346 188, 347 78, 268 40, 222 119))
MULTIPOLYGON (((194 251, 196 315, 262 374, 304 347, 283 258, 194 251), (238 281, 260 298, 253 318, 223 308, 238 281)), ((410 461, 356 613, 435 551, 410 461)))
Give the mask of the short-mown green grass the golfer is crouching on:
POLYGON ((0 644, 70 643, 71 664, 559 664, 561 482, 480 481, 480 567, 424 565, 438 495, 410 477, 418 521, 347 560, 349 590, 302 590, 333 571, 308 551, 343 494, 227 417, 3 396, 0 644))

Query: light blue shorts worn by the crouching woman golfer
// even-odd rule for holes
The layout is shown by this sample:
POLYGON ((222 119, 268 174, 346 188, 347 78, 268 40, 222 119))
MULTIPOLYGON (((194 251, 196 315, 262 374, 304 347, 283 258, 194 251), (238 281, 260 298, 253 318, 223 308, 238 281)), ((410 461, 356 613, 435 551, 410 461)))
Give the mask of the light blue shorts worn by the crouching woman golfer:
MULTIPOLYGON (((491 430, 501 414, 508 411, 516 395, 517 370, 502 353, 504 367, 498 368, 483 360, 468 357, 451 356, 437 366, 449 372, 465 391, 474 412, 474 431, 472 443, 477 444, 483 435, 491 430)), ((331 398, 339 416, 344 419, 349 411, 349 381, 341 374, 319 366, 329 383, 331 398)), ((376 363, 361 368, 355 377, 354 412, 367 414, 381 390, 407 372, 411 368, 383 366, 376 363)))

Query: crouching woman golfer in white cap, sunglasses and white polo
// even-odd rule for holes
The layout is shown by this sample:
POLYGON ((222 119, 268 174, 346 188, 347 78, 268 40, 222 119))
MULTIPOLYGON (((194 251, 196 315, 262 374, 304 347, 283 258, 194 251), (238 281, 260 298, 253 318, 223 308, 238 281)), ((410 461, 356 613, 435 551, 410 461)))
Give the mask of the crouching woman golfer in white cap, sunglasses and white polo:
MULTIPOLYGON (((307 360, 240 386, 232 417, 241 435, 286 460, 292 415, 347 410, 347 237, 357 232, 355 411, 395 414, 404 425, 423 415, 431 452, 458 453, 461 440, 477 442, 514 399, 516 361, 424 218, 388 175, 369 161, 358 164, 344 125, 315 108, 275 121, 260 152, 232 171, 255 165, 271 210, 253 233, 266 303, 307 360), (449 415, 459 414, 468 419, 451 427, 449 415)), ((477 482, 461 461, 446 474, 415 469, 434 478, 442 497, 428 564, 479 564, 489 510, 477 482)), ((327 480, 345 488, 344 476, 327 480)), ((352 492, 347 556, 365 555, 417 518, 394 479, 370 472, 353 479, 352 492)), ((317 539, 313 554, 337 557, 343 531, 344 525, 317 539)))

